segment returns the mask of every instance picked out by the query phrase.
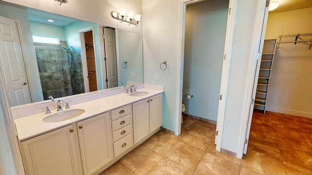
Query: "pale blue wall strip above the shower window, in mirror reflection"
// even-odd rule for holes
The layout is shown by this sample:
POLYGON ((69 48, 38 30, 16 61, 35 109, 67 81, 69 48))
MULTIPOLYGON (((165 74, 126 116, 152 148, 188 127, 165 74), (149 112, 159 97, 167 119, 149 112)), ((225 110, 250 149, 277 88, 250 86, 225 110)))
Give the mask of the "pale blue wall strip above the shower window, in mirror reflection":
POLYGON ((64 27, 41 22, 29 21, 33 35, 59 37, 60 41, 66 41, 64 27))

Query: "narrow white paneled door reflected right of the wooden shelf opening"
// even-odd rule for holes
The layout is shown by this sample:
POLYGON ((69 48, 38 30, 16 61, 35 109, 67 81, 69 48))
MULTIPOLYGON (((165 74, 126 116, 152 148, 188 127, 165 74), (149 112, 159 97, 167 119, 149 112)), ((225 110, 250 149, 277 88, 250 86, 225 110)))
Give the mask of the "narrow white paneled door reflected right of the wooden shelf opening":
POLYGON ((104 28, 104 44, 107 69, 107 88, 118 87, 117 53, 115 30, 104 28))

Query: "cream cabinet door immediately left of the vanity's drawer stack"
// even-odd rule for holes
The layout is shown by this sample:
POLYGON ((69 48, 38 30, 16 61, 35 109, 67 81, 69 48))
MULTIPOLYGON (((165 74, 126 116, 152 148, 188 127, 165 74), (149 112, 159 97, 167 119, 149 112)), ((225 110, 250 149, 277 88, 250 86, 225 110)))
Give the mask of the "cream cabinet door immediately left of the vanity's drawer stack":
POLYGON ((77 123, 83 174, 91 175, 111 160, 108 113, 77 123))

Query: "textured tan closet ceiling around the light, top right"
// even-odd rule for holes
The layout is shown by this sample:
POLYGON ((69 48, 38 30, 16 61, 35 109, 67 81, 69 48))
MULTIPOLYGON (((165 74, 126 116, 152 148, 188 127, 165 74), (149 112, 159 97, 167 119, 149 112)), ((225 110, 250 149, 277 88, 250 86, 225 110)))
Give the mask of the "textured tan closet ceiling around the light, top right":
POLYGON ((279 6, 269 14, 312 7, 312 0, 271 0, 278 1, 279 6))

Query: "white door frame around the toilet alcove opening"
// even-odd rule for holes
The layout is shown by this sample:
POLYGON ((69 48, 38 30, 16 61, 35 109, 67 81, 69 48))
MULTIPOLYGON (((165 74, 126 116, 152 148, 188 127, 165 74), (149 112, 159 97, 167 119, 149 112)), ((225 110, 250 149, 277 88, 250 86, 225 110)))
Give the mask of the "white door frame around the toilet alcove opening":
MULTIPOLYGON (((178 109, 176 111, 179 111, 178 114, 176 114, 176 135, 180 135, 181 133, 181 123, 180 118, 181 116, 181 104, 182 104, 182 86, 183 86, 183 66, 184 66, 184 36, 185 36, 185 15, 186 15, 186 4, 187 3, 193 3, 196 1, 201 0, 181 0, 182 4, 182 10, 180 12, 181 15, 181 40, 178 42, 181 46, 178 53, 181 54, 178 55, 181 57, 181 62, 178 60, 177 65, 181 65, 181 69, 178 69, 178 74, 180 75, 180 80, 177 82, 177 87, 180 87, 180 89, 177 89, 178 95, 178 109), (181 70, 179 72, 179 70, 181 70)), ((218 116, 217 116, 217 125, 216 125, 216 131, 218 131, 218 136, 215 135, 215 144, 216 144, 216 150, 221 150, 221 140, 222 140, 222 131, 223 131, 223 123, 224 123, 224 115, 225 115, 225 105, 226 105, 226 96, 228 91, 228 82, 229 82, 229 76, 230 76, 230 64, 231 64, 231 58, 232 58, 232 45, 233 45, 233 38, 234 38, 234 24, 235 24, 235 17, 236 17, 236 5, 237 0, 229 0, 229 11, 231 9, 231 13, 228 14, 227 19, 227 29, 226 29, 226 37, 225 37, 225 46, 224 46, 224 55, 226 55, 226 59, 223 60, 223 66, 222 66, 222 76, 221 76, 221 87, 220 87, 220 95, 222 94, 222 100, 219 100, 219 107, 218 107, 218 116)))

